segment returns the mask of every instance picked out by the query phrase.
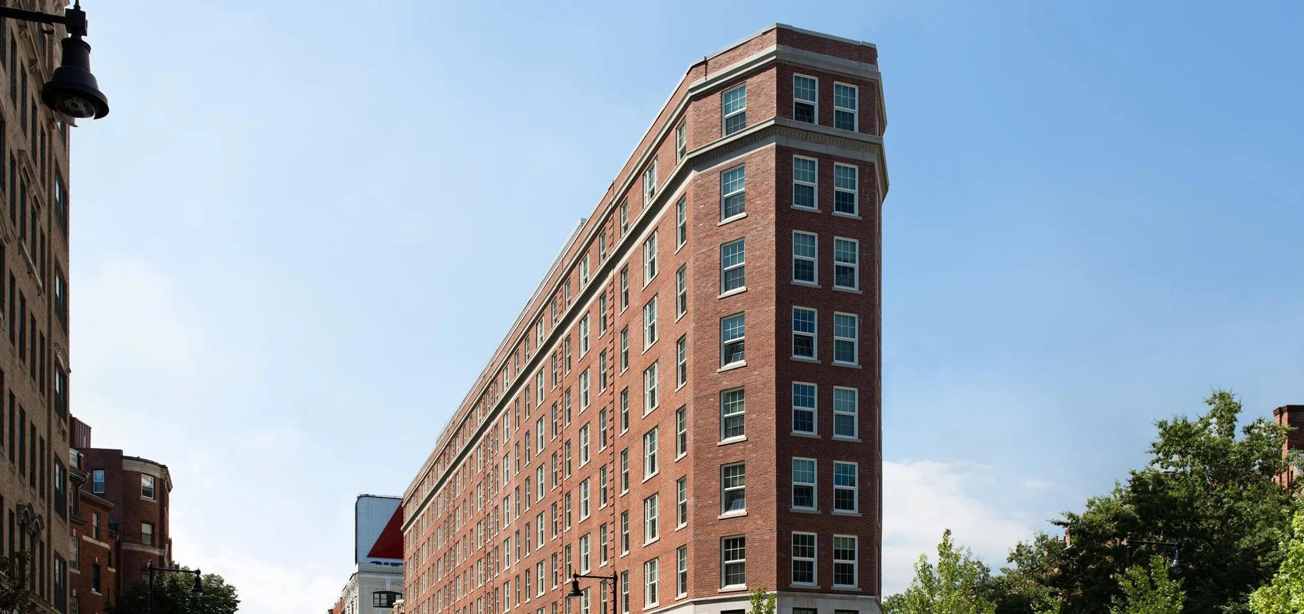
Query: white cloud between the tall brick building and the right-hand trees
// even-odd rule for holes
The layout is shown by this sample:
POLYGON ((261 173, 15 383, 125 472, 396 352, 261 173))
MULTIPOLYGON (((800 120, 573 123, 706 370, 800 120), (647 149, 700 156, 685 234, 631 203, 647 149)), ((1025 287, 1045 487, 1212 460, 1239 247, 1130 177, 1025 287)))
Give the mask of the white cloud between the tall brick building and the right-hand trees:
POLYGON ((883 593, 910 585, 921 554, 936 562, 941 533, 1000 567, 1009 549, 1033 534, 1031 524, 1001 514, 971 493, 991 489, 995 472, 977 463, 883 463, 883 593))

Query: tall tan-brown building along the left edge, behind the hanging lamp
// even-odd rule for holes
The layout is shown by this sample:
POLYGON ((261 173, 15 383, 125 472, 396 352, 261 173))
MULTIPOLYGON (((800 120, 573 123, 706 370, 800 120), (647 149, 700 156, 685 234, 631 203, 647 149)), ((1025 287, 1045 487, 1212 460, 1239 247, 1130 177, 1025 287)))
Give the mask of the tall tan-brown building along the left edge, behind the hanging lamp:
MULTIPOLYGON (((53 0, 9 1, 61 13, 53 0)), ((0 20, 0 549, 68 611, 69 124, 39 102, 63 25, 0 20)))

